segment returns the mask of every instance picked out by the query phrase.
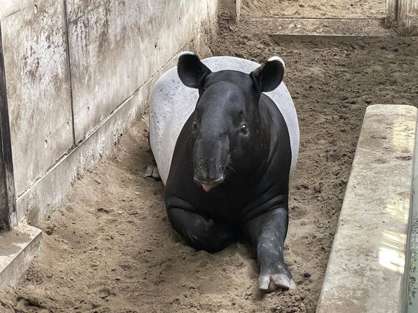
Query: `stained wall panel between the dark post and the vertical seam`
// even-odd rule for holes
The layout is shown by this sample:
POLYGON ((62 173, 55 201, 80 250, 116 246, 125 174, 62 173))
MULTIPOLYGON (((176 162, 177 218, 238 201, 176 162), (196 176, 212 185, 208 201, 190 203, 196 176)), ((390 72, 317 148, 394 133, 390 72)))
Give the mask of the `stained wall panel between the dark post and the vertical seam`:
POLYGON ((1 21, 17 195, 72 146, 63 6, 36 3, 1 21))

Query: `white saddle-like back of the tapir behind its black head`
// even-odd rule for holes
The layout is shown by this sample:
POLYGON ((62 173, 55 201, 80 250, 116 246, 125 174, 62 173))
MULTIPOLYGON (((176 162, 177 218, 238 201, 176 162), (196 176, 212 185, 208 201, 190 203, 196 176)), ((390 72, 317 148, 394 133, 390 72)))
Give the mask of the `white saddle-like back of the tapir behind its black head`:
MULTIPOLYGON (((237 70, 249 73, 258 63, 233 56, 214 56, 202 62, 212 72, 237 70)), ((291 141, 291 173, 295 170, 299 150, 299 125, 291 95, 284 83, 268 95, 286 120, 291 141)), ((177 74, 177 67, 167 71, 155 84, 150 99, 150 145, 162 178, 167 182, 174 147, 187 118, 196 107, 199 92, 186 87, 177 74)))

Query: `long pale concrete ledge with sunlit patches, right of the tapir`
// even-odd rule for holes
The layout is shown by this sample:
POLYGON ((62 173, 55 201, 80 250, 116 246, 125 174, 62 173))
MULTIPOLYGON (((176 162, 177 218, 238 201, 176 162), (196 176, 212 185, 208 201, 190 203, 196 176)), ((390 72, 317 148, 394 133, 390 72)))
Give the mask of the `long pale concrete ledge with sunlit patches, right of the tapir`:
POLYGON ((318 303, 325 312, 402 312, 417 109, 366 110, 318 303))

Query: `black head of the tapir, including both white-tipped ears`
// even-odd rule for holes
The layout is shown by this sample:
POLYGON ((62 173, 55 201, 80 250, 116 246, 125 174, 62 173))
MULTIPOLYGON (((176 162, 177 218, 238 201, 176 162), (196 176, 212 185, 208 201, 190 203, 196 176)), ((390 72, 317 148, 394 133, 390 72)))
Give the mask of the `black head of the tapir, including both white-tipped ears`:
MULTIPOLYGON (((250 74, 224 70, 211 72, 196 54, 178 57, 178 75, 199 100, 189 121, 195 138, 194 182, 205 191, 222 184, 226 174, 247 172, 262 159, 263 134, 259 111, 261 93, 272 91, 283 79, 284 63, 270 58, 250 74)), ((268 153, 268 152, 267 152, 268 153)))

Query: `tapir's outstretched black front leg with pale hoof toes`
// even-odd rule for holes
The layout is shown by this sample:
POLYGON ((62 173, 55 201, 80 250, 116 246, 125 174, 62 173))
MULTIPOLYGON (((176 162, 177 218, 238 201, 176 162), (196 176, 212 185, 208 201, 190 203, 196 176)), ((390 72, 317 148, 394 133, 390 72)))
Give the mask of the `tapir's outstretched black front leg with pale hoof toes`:
POLYGON ((273 209, 249 220, 245 227, 251 244, 257 250, 258 264, 260 264, 258 287, 269 292, 277 288, 296 288, 283 256, 288 211, 284 208, 273 209))

